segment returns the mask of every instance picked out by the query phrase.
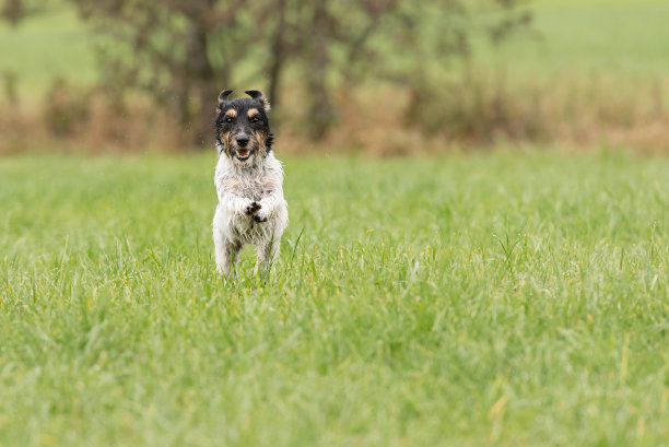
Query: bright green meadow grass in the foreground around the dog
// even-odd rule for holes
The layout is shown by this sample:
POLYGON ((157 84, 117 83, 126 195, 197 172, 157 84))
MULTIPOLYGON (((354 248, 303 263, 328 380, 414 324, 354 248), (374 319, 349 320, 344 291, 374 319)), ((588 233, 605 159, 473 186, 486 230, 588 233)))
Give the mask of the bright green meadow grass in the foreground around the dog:
POLYGON ((213 156, 0 165, 0 446, 658 446, 669 161, 291 158, 267 284, 213 156))

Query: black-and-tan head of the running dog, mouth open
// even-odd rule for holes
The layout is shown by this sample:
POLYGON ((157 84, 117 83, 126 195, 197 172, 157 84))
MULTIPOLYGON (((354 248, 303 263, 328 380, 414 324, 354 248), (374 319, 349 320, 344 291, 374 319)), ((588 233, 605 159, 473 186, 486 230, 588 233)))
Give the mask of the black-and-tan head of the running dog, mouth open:
POLYGON ((272 150, 268 113, 270 104, 257 90, 248 90, 250 98, 228 99, 232 90, 219 95, 216 144, 237 165, 253 165, 272 150))

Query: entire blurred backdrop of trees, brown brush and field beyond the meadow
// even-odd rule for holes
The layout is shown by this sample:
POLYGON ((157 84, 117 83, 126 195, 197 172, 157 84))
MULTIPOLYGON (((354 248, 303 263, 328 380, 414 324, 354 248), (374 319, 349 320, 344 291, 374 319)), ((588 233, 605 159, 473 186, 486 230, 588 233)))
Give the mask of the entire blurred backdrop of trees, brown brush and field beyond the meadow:
POLYGON ((262 90, 281 152, 669 153, 664 0, 1 0, 0 153, 211 146, 262 90))

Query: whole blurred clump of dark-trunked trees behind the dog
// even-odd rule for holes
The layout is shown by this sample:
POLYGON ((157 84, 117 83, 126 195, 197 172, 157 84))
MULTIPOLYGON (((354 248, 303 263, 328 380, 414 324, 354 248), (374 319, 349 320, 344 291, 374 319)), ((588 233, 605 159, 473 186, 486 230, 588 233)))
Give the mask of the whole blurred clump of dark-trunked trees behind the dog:
POLYGON ((216 94, 239 82, 238 68, 262 73, 275 109, 283 72, 302 73, 305 127, 320 139, 337 122, 333 89, 385 79, 408 89, 414 106, 434 103, 449 61, 469 55, 474 16, 488 12, 480 5, 498 7, 480 25, 495 42, 524 23, 498 14, 521 0, 71 1, 109 37, 99 56, 113 94, 144 89, 198 143, 210 140, 216 94))

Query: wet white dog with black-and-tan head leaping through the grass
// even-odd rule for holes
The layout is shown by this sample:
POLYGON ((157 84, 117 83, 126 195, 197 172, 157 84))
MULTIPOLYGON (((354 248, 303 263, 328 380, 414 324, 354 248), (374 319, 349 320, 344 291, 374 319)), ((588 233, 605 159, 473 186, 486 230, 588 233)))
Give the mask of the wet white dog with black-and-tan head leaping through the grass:
POLYGON ((279 256, 281 235, 287 225, 283 199, 283 168, 272 153, 268 113, 270 105, 257 90, 250 98, 219 95, 214 185, 219 204, 213 219, 216 269, 231 277, 239 251, 256 246, 256 273, 265 275, 279 256))

